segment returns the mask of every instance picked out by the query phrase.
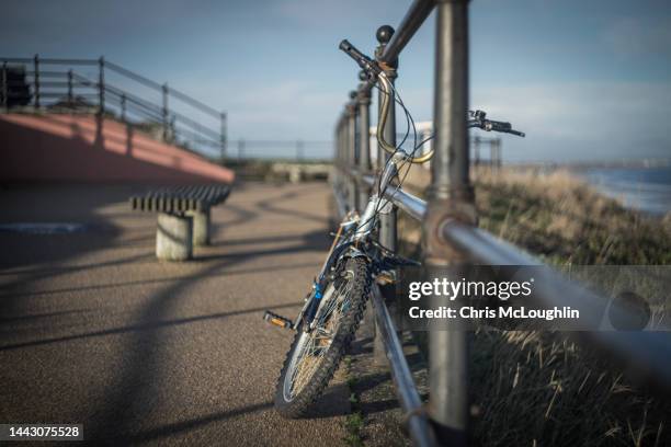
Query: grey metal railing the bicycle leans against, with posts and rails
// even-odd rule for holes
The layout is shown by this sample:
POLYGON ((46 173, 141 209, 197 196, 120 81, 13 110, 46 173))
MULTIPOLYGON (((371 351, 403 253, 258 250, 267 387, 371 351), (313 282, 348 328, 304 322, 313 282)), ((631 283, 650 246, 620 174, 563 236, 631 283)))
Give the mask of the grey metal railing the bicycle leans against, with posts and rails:
MULTIPOLYGON (((469 179, 468 129, 468 1, 416 0, 396 33, 389 26, 377 31, 379 46, 376 58, 386 74, 397 76, 397 58, 412 35, 433 9, 436 9, 435 85, 432 180, 428 200, 418 198, 402 188, 385 192, 395 206, 394 213, 380 217, 380 243, 396 248, 396 210, 422 222, 424 277, 444 276, 447 266, 469 264, 539 265, 541 262, 488 232, 476 227, 475 194, 469 179)), ((369 106, 372 83, 364 80, 350 101, 336 126, 334 174, 332 179, 336 202, 341 215, 365 206, 374 186, 369 148, 369 106), (362 131, 364 129, 364 131, 362 131)), ((395 144, 394 105, 385 128, 385 139, 395 144)), ((377 149, 378 168, 386 161, 385 152, 377 149)), ((587 318, 600 316, 589 309, 601 308, 603 297, 596 296, 558 273, 547 270, 536 277, 537 299, 553 306, 566 306, 571 297, 585 300, 587 318), (592 306, 594 305, 594 306, 592 306)), ((424 406, 419 400, 410 369, 402 355, 394 319, 374 287, 373 303, 376 312, 375 355, 382 349, 388 358, 393 378, 408 428, 414 444, 464 445, 469 422, 468 401, 468 342, 466 331, 431 331, 429 333, 430 398, 424 406), (427 411, 424 412, 424 408, 427 411)), ((387 301, 396 297, 386 297, 387 301)), ((431 297, 432 307, 442 305, 444 297, 431 297)), ((575 298, 573 298, 575 299, 575 298)), ((663 332, 580 332, 579 341, 590 342, 601 352, 621 360, 639 375, 651 379, 661 389, 671 390, 671 343, 663 332)))

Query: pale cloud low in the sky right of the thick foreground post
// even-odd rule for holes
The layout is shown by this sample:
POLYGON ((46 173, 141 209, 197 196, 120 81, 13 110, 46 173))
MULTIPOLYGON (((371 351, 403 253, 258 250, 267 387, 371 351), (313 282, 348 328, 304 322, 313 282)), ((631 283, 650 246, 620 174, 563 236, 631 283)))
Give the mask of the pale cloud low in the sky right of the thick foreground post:
POLYGON ((579 82, 475 89, 471 106, 527 133, 513 160, 671 156, 671 83, 579 82))

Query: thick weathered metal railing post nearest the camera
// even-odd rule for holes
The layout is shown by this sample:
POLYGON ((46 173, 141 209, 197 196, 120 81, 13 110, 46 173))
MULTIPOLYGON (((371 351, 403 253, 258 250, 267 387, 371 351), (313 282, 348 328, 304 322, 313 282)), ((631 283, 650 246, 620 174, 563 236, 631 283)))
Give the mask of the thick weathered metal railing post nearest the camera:
MULTIPOLYGON (((439 0, 435 33, 435 156, 422 233, 427 280, 444 277, 446 267, 459 275, 458 268, 466 266, 465 256, 442 238, 443 225, 448 220, 476 222, 468 176, 468 0, 439 0)), ((444 300, 433 296, 430 306, 445 306, 444 300)), ((452 324, 450 330, 429 333, 429 414, 441 444, 465 445, 468 336, 452 324)))

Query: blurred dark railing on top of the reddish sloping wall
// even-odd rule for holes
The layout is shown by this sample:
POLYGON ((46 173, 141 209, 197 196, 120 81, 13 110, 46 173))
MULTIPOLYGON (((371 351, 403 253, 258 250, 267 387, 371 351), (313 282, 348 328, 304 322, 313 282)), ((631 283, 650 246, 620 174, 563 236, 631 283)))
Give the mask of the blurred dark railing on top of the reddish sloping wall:
POLYGON ((164 141, 224 158, 227 150, 227 114, 169 87, 99 59, 0 57, 0 107, 50 111, 95 111, 144 127, 164 141), (77 68, 76 71, 75 68, 77 68), (81 70, 93 69, 95 76, 81 70), (110 77, 128 85, 116 85, 110 77), (130 87, 133 85, 133 87, 130 87), (145 92, 158 93, 148 100, 145 92), (174 103, 174 104, 173 104, 174 103), (180 112, 178 112, 178 110, 180 112), (202 119, 194 117, 202 116, 202 119), (207 122, 208 124, 203 124, 207 122))

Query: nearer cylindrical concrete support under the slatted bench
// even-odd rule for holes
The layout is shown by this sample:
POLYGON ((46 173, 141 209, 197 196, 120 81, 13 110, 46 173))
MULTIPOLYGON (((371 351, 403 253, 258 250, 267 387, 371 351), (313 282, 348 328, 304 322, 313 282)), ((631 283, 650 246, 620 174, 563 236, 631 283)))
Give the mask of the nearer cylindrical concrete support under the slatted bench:
POLYGON ((158 215, 156 257, 187 261, 193 254, 193 218, 167 213, 158 215))

